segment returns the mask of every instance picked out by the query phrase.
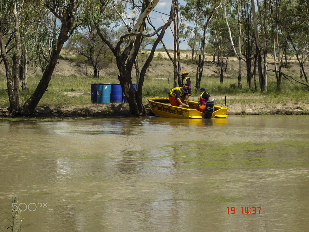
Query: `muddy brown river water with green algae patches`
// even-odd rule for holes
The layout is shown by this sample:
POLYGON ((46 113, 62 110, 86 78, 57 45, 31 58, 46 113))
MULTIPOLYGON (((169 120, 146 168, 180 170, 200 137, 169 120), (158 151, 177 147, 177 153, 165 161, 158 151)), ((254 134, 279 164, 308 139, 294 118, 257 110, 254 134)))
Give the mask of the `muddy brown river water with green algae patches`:
POLYGON ((1 121, 0 227, 20 209, 23 231, 307 231, 308 131, 308 116, 1 121))

